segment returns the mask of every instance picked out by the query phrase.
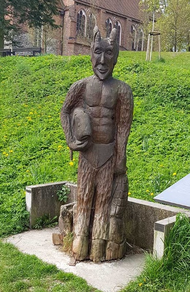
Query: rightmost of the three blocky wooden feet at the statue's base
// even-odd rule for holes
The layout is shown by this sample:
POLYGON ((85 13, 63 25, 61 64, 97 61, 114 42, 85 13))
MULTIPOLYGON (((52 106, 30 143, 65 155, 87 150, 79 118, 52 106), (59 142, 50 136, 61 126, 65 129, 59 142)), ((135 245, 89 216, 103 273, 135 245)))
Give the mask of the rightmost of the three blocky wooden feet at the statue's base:
POLYGON ((126 252, 126 242, 120 244, 113 241, 108 241, 106 245, 106 261, 121 259, 124 257, 126 252))

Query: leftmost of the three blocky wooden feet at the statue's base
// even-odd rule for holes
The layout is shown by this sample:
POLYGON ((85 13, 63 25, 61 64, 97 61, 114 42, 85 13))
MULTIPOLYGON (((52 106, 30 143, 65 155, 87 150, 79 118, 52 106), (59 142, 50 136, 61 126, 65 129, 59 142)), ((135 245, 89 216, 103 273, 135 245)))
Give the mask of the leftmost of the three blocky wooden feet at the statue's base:
POLYGON ((79 261, 87 259, 88 236, 76 236, 72 245, 72 256, 79 261))

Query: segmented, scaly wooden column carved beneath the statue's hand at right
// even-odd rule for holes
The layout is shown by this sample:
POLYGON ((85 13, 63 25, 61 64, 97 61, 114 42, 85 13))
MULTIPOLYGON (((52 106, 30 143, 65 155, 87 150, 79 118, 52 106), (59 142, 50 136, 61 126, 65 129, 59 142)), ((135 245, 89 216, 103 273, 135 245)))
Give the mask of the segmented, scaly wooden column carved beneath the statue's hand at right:
POLYGON ((128 193, 126 174, 120 174, 114 179, 112 193, 106 260, 122 258, 126 251, 125 208, 128 193))

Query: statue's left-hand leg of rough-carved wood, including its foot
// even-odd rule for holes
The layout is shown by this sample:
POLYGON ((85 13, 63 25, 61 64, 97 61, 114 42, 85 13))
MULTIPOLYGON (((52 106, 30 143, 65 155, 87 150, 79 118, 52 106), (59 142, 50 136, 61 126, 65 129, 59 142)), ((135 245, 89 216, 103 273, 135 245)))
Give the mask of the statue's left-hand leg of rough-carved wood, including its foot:
POLYGON ((76 260, 84 260, 88 256, 89 222, 91 206, 94 194, 94 169, 80 155, 78 168, 78 195, 77 209, 74 215, 72 246, 73 257, 76 260))

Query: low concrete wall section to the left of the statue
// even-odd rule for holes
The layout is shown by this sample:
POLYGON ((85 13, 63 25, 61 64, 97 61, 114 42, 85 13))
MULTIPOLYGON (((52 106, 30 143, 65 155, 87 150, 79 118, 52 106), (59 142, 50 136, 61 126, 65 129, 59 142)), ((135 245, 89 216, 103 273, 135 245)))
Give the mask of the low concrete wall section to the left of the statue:
POLYGON ((61 190, 64 184, 70 188, 68 204, 76 200, 77 187, 74 184, 63 181, 26 187, 26 209, 30 212, 30 228, 35 225, 37 218, 45 214, 50 214, 51 218, 54 216, 59 217, 60 207, 63 202, 58 200, 56 192, 61 190))

